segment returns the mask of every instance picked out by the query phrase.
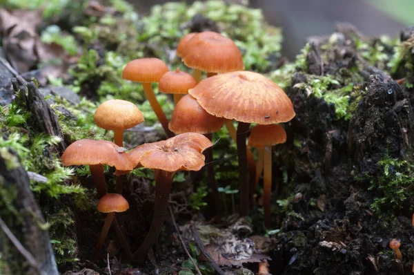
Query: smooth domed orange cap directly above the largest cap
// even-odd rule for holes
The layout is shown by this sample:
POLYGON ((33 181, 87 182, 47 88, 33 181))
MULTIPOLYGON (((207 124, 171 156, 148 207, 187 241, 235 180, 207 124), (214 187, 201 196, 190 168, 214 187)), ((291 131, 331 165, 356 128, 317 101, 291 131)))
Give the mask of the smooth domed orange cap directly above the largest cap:
POLYGON ((243 57, 233 40, 217 32, 199 32, 186 43, 182 61, 209 73, 243 70, 243 57))

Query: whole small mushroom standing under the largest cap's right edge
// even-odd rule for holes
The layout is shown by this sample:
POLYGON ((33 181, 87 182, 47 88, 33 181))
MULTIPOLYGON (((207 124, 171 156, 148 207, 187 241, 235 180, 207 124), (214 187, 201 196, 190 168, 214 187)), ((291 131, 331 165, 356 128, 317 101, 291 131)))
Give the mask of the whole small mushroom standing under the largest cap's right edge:
MULTIPOLYGON (((257 148, 258 159, 257 167, 264 167, 263 178, 263 206, 264 206, 264 225, 270 228, 270 192, 272 191, 272 145, 286 142, 286 131, 277 124, 256 125, 250 132, 248 144, 257 148)), ((258 181, 262 171, 256 171, 258 181)), ((251 182, 250 182, 251 184, 251 182)), ((250 196, 253 196, 257 182, 250 189, 250 196)), ((251 187, 251 185, 250 185, 251 187)))

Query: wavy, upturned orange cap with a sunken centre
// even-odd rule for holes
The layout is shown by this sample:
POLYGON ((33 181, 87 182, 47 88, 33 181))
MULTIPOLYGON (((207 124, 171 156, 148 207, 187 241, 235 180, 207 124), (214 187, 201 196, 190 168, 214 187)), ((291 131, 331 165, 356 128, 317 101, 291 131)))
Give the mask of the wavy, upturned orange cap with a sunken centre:
POLYGON ((146 143, 128 153, 135 167, 160 169, 168 172, 179 170, 199 171, 204 167, 202 152, 213 143, 199 133, 182 133, 168 140, 146 143))

